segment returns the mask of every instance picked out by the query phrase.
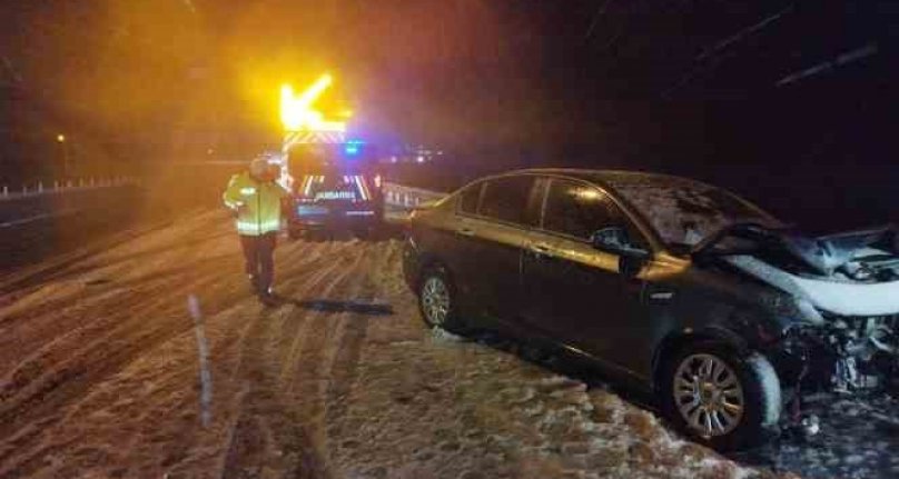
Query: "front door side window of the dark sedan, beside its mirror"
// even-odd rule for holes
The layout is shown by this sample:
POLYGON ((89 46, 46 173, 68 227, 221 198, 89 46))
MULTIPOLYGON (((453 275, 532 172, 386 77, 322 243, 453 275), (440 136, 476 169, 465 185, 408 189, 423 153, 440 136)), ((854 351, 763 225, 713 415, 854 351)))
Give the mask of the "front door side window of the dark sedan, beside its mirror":
POLYGON ((544 230, 590 240, 597 230, 623 223, 615 204, 599 189, 566 180, 550 183, 544 230))

